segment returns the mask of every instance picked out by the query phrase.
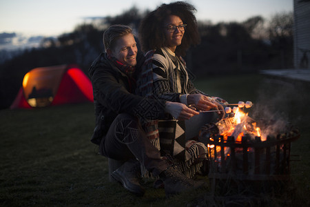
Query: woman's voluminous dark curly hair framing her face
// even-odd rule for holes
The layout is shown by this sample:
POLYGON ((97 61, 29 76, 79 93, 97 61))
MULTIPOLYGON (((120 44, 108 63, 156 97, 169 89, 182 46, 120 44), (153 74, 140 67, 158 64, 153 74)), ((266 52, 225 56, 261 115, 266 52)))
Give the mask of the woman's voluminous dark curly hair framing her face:
POLYGON ((180 46, 176 47, 176 55, 184 56, 191 45, 200 43, 200 36, 197 28, 196 8, 189 3, 177 1, 174 3, 163 3, 156 10, 149 12, 141 21, 139 27, 139 41, 143 52, 156 50, 166 46, 166 38, 163 30, 163 22, 169 15, 176 15, 187 24, 180 46))

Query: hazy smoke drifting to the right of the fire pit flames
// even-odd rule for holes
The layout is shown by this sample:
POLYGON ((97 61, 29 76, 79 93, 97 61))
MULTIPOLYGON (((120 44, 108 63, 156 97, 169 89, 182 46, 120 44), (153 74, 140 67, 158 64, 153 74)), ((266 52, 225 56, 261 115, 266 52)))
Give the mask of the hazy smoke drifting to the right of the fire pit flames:
POLYGON ((252 117, 258 121, 262 135, 286 132, 290 125, 300 124, 307 101, 307 89, 299 83, 265 79, 254 103, 252 117))

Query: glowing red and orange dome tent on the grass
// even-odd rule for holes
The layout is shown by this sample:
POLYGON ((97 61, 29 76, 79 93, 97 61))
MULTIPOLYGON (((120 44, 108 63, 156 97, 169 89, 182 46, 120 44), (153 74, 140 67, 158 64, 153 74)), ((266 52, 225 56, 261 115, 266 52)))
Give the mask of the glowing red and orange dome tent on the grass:
POLYGON ((92 83, 74 65, 34 68, 23 77, 23 86, 10 108, 34 108, 94 101, 92 83))

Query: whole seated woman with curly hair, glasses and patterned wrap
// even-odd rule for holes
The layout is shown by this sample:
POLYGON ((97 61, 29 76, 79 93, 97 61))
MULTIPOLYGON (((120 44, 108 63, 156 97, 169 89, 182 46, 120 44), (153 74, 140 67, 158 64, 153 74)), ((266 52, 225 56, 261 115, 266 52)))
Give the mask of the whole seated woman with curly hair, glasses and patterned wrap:
POLYGON ((146 52, 146 61, 138 80, 140 95, 182 103, 185 108, 216 110, 200 115, 193 113, 190 119, 179 115, 169 117, 170 122, 158 121, 161 150, 178 159, 181 170, 189 177, 193 177, 199 170, 207 154, 204 144, 197 141, 200 127, 222 118, 225 114, 223 106, 216 99, 194 87, 181 57, 190 46, 200 42, 194 11, 194 6, 182 1, 162 4, 147 14, 139 28, 141 48, 146 52), (189 120, 182 121, 185 119, 189 120), (174 129, 166 129, 165 133, 161 134, 163 127, 174 129), (174 138, 167 138, 167 131, 174 132, 174 138), (174 141, 167 141, 169 139, 174 141), (174 146, 165 146, 167 143, 174 146), (185 150, 182 150, 183 148, 185 150))

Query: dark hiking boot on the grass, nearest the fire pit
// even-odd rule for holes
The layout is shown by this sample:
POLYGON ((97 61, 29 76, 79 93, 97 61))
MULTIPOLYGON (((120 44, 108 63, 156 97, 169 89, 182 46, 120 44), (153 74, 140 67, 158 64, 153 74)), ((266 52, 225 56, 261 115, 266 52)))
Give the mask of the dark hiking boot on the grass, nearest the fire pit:
POLYGON ((169 166, 166 170, 161 172, 159 177, 163 180, 167 197, 169 197, 169 195, 183 193, 187 190, 205 187, 205 182, 189 179, 189 177, 184 175, 175 165, 169 166))

